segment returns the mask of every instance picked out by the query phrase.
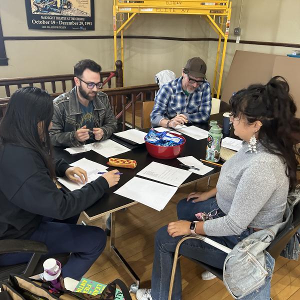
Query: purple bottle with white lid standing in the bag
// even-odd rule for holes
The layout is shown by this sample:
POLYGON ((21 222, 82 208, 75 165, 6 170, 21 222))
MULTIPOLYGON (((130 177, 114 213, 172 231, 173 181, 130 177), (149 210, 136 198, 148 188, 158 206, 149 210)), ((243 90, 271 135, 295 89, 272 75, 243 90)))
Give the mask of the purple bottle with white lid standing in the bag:
POLYGON ((55 289, 62 289, 63 278, 61 276, 61 264, 54 258, 48 258, 42 264, 44 271, 42 274, 43 281, 48 281, 55 289))

